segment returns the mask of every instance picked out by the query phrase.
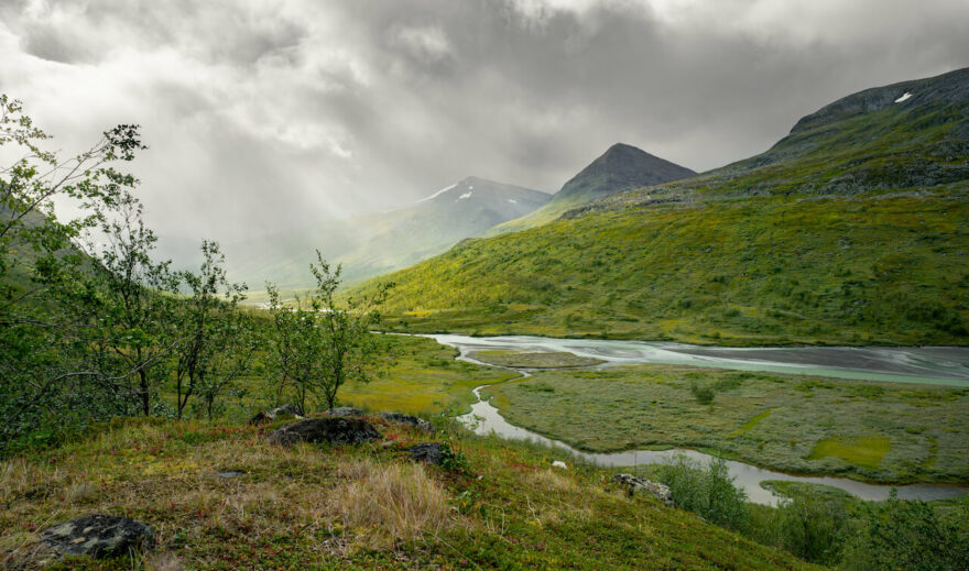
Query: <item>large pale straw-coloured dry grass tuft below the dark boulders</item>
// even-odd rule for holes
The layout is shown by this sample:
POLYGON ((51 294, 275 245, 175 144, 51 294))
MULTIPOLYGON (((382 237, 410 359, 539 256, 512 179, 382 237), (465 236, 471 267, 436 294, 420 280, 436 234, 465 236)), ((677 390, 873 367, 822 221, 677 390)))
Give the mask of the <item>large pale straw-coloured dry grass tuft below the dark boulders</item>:
POLYGON ((434 536, 451 524, 447 496, 420 464, 364 459, 342 465, 341 472, 358 480, 334 494, 334 510, 348 530, 372 529, 374 547, 434 536))

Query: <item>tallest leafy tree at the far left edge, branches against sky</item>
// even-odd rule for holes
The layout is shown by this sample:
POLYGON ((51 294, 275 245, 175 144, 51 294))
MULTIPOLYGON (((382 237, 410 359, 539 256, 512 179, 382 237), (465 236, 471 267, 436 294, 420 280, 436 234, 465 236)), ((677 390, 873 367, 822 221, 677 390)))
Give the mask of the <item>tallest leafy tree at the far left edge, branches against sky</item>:
POLYGON ((45 151, 47 139, 20 101, 0 95, 0 146, 21 153, 0 166, 0 455, 24 438, 51 440, 113 414, 105 388, 132 374, 92 366, 75 309, 94 296, 77 240, 135 186, 111 165, 144 149, 138 127, 118 125, 67 158, 45 151), (59 221, 55 199, 74 200, 84 216, 59 221))

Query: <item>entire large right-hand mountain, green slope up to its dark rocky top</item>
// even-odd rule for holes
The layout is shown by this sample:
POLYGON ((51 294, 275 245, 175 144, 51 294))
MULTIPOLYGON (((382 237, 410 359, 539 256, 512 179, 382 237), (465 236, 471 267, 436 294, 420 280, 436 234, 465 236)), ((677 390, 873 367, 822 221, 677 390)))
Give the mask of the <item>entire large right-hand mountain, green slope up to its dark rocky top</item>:
MULTIPOLYGON (((386 277, 409 331, 969 343, 969 69, 868 89, 766 152, 386 277)), ((370 287, 364 285, 363 287, 370 287)))

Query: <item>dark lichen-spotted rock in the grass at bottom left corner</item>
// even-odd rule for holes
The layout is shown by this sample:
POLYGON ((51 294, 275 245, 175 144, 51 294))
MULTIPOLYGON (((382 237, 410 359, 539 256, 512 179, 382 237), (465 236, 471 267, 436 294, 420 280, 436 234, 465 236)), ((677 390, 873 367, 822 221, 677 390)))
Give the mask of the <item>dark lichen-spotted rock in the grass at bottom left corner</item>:
POLYGON ((106 558, 150 549, 154 530, 133 519, 95 514, 48 528, 41 541, 66 556, 106 558))

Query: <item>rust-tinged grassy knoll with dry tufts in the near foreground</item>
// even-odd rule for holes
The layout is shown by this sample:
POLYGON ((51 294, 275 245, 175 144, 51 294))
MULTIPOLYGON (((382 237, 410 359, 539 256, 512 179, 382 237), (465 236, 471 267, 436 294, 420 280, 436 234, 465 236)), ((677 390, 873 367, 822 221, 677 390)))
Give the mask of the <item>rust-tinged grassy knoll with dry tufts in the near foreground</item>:
POLYGON ((270 427, 132 420, 3 461, 0 567, 39 565, 40 530, 104 513, 152 525, 154 550, 47 569, 812 568, 547 450, 438 433, 467 468, 424 466, 403 448, 428 437, 373 422, 385 442, 280 449, 270 427))

